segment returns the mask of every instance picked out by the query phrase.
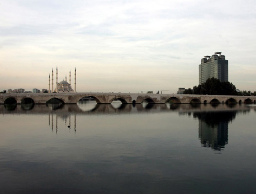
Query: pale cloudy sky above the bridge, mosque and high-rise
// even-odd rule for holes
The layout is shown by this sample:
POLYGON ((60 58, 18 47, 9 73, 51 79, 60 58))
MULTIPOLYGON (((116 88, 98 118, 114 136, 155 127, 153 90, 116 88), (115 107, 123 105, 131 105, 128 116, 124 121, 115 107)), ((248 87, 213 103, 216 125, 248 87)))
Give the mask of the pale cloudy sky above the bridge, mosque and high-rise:
POLYGON ((254 0, 0 0, 0 91, 158 90, 199 85, 205 55, 222 52, 229 81, 256 91, 254 0), (52 75, 51 75, 52 76, 52 75))

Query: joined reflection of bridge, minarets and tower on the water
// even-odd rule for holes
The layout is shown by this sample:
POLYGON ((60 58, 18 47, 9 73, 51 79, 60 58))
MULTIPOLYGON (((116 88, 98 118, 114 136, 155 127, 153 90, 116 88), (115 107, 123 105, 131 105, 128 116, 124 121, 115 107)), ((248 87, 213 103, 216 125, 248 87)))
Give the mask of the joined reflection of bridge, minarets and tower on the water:
MULTIPOLYGON (((168 113, 191 115, 199 120, 199 139, 203 147, 222 150, 228 144, 228 125, 236 114, 246 114, 246 104, 20 104, 1 105, 1 114, 48 114, 48 125, 58 133, 58 122, 65 122, 69 131, 76 133, 77 115, 168 113)), ((256 110, 256 109, 255 109, 256 110)), ((81 126, 78 126, 78 128, 81 126)))

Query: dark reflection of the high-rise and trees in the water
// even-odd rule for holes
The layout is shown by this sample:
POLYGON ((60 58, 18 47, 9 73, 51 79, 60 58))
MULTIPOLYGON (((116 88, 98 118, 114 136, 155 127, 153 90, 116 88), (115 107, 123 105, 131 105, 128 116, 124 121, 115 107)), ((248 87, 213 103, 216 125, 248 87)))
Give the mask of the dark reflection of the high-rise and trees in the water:
POLYGON ((228 125, 236 111, 194 112, 199 119, 199 139, 203 147, 221 150, 228 144, 228 125))

